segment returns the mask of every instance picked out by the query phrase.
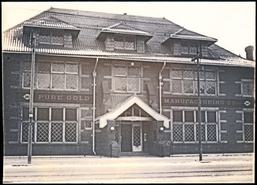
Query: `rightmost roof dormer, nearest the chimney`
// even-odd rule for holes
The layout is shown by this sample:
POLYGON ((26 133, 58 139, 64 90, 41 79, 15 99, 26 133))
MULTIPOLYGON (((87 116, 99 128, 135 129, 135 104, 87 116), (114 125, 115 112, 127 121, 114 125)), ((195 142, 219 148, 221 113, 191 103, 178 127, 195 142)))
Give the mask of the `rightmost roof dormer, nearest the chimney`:
POLYGON ((197 54, 197 49, 199 52, 200 45, 202 52, 205 52, 215 42, 217 42, 215 38, 181 28, 162 40, 161 44, 170 47, 172 54, 175 56, 194 56, 197 54))

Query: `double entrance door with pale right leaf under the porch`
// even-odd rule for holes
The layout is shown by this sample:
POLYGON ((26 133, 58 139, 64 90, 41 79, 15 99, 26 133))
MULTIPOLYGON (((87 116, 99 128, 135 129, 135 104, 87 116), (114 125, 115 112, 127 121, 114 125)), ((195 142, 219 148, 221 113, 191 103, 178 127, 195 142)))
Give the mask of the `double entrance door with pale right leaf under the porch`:
POLYGON ((120 151, 141 152, 142 151, 142 124, 124 123, 120 124, 120 151))

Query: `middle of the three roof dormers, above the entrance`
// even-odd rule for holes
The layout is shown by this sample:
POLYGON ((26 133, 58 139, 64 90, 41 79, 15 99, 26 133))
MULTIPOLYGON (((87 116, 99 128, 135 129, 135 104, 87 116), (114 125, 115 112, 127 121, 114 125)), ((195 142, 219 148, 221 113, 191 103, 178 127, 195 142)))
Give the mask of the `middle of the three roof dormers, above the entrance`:
POLYGON ((135 29, 126 23, 118 23, 102 28, 97 39, 104 43, 107 51, 134 50, 144 53, 145 43, 152 37, 148 32, 135 29))

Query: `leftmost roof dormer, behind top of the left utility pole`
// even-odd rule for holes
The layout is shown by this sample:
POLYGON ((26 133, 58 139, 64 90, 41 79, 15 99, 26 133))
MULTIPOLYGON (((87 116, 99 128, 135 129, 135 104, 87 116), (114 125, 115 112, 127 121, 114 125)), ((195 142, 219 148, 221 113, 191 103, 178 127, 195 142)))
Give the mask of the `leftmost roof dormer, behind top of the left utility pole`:
POLYGON ((36 36, 36 46, 39 48, 72 48, 73 40, 80 32, 77 27, 52 16, 30 20, 23 24, 23 38, 26 46, 30 46, 32 30, 36 36))

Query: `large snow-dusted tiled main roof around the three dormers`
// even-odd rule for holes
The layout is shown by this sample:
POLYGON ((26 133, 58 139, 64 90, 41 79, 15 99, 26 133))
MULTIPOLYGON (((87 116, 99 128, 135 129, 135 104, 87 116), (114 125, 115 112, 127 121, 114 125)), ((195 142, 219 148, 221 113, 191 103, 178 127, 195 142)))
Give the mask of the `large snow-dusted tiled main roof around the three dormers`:
MULTIPOLYGON (((189 57, 172 56, 169 47, 161 44, 161 42, 171 35, 213 39, 183 29, 165 18, 50 8, 6 30, 2 37, 2 49, 4 52, 31 52, 31 49, 23 43, 23 26, 25 24, 81 30, 74 40, 73 48, 36 48, 37 53, 45 54, 192 63, 189 57), (116 31, 126 31, 127 33, 148 33, 154 36, 146 42, 145 53, 136 53, 135 51, 108 52, 105 51, 103 42, 96 39, 104 28, 112 31, 117 29, 116 31)), ((205 59, 201 59, 201 61, 210 65, 255 66, 253 61, 237 56, 215 44, 205 48, 203 56, 205 59)))

